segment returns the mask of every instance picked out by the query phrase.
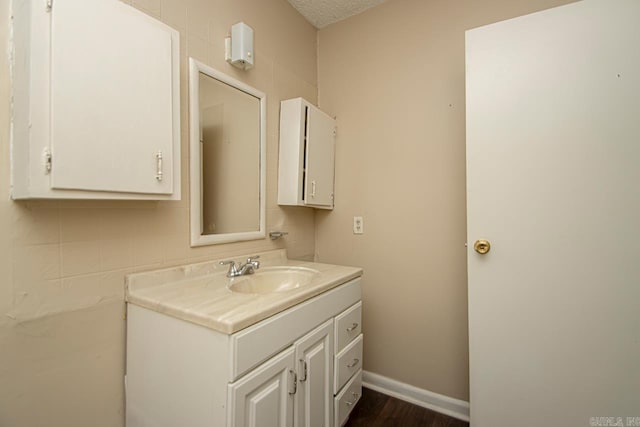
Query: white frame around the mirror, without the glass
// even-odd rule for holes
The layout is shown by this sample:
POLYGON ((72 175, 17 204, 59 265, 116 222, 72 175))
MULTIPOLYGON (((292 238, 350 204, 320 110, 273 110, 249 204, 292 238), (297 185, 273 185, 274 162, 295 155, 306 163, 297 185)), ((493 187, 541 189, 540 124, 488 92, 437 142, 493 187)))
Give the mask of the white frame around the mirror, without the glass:
POLYGON ((189 58, 189 197, 191 246, 258 240, 266 238, 266 149, 267 95, 239 80, 217 71, 194 58, 189 58), (202 156, 200 152, 200 73, 228 84, 260 100, 260 228, 257 231, 202 234, 202 156))

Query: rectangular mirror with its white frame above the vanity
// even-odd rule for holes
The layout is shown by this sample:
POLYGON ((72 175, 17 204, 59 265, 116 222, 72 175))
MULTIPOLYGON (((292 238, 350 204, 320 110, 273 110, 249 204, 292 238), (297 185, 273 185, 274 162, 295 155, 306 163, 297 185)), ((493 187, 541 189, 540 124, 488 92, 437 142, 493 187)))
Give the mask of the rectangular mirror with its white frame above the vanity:
POLYGON ((189 58, 191 246, 265 237, 266 104, 189 58))

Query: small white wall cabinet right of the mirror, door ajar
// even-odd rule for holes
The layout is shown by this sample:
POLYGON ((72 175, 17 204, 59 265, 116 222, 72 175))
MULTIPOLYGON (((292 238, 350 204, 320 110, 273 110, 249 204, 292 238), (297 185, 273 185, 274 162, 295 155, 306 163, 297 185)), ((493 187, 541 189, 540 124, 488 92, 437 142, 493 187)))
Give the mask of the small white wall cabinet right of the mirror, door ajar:
POLYGON ((302 98, 280 104, 278 204, 333 209, 335 119, 302 98))

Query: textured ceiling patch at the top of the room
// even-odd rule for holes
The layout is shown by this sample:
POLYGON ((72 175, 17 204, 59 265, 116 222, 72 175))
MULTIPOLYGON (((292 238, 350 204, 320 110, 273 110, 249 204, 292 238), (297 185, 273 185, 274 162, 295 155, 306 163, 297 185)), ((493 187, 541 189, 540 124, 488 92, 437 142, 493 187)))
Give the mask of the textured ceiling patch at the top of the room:
POLYGON ((288 0, 316 28, 326 27, 386 0, 288 0))

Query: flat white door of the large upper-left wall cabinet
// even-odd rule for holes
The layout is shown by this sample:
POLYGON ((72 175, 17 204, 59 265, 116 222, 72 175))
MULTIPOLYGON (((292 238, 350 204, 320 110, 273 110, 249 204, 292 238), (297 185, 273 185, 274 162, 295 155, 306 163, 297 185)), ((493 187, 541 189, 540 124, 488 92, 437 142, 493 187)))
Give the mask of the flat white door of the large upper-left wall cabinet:
POLYGON ((51 14, 52 188, 172 193, 171 33, 117 0, 51 14))

